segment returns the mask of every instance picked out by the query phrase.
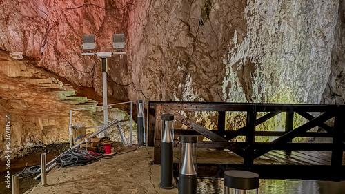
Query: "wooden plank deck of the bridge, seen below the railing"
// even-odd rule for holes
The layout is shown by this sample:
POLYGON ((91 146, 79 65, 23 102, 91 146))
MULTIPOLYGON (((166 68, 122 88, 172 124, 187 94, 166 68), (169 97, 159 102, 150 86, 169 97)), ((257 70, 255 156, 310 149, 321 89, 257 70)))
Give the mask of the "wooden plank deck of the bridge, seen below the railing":
MULTIPOLYGON (((198 148, 197 163, 198 177, 222 177, 226 170, 244 168, 244 159, 227 149, 198 148)), ((175 176, 178 165, 179 148, 174 148, 175 176)), ((292 151, 290 155, 270 151, 254 160, 253 171, 262 178, 331 180, 331 151, 292 151)), ((345 155, 342 171, 345 172, 345 155)))

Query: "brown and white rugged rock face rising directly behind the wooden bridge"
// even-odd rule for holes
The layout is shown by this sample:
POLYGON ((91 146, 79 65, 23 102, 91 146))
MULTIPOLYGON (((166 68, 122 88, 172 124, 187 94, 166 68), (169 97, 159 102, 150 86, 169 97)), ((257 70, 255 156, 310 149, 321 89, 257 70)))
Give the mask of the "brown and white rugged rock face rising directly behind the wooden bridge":
POLYGON ((154 1, 148 10, 149 53, 134 56, 147 60, 133 77, 149 99, 321 101, 337 1, 154 1))

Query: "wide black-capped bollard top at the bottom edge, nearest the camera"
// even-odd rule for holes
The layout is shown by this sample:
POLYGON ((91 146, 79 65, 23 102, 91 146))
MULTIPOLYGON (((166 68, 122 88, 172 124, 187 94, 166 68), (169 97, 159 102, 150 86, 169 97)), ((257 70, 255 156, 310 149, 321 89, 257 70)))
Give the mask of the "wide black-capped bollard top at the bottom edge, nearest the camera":
POLYGON ((257 194, 259 175, 249 171, 225 171, 225 194, 257 194))

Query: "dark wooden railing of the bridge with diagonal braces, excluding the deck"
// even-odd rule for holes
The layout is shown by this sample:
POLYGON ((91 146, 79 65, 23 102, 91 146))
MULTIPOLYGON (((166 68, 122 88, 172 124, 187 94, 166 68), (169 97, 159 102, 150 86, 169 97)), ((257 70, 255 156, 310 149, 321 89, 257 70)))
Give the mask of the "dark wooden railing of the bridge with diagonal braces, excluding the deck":
POLYGON ((211 141, 199 142, 199 147, 228 148, 244 158, 244 166, 247 170, 253 168, 255 158, 269 151, 284 150, 288 153, 299 150, 331 151, 331 166, 335 173, 335 180, 338 180, 338 174, 341 172, 339 169, 342 167, 343 151, 345 151, 345 105, 150 101, 148 104, 148 146, 155 146, 155 164, 160 163, 161 115, 166 113, 175 115, 175 120, 189 129, 175 129, 176 134, 207 137, 211 141), (208 130, 182 115, 181 111, 217 111, 217 130, 208 130), (238 130, 226 130, 226 112, 246 113, 246 126, 238 130), (263 116, 257 117, 258 113, 263 116), (256 130, 257 126, 268 122, 280 113, 285 113, 284 131, 256 130), (304 117, 307 122, 294 126, 295 115, 304 117), (333 126, 325 123, 333 118, 333 126), (308 132, 315 127, 322 128, 324 132, 308 132), (239 136, 245 137, 244 142, 232 142, 239 136), (259 136, 277 136, 277 139, 271 142, 256 142, 255 137, 259 136), (332 141, 330 143, 292 142, 295 137, 328 137, 332 138, 332 141))

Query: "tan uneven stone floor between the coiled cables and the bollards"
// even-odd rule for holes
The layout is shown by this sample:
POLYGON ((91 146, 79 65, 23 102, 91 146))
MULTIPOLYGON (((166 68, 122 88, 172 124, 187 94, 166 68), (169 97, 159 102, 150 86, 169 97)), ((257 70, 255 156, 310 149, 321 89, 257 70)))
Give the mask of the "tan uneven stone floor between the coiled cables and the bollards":
POLYGON ((177 188, 159 188, 160 166, 144 146, 123 148, 120 155, 86 166, 54 168, 47 175, 48 186, 35 186, 26 194, 41 193, 178 193, 177 188), (130 153, 126 153, 131 151, 130 153))

